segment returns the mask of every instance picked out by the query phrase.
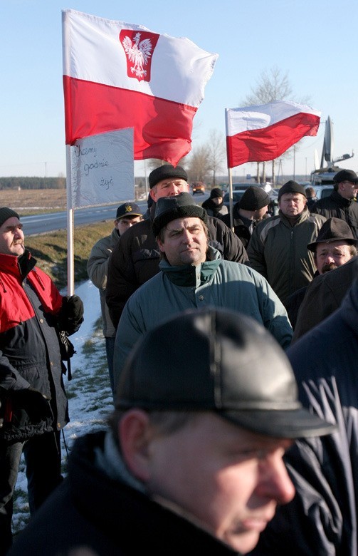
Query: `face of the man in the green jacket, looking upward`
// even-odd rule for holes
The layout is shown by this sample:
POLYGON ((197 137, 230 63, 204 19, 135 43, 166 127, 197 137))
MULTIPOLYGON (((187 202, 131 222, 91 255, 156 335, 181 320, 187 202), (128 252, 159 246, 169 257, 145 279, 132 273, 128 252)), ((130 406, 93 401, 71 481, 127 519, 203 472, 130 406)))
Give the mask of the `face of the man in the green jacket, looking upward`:
POLYGON ((164 228, 164 241, 157 240, 172 267, 200 264, 206 259, 208 240, 200 218, 177 218, 164 228))

